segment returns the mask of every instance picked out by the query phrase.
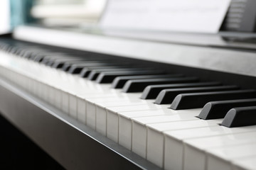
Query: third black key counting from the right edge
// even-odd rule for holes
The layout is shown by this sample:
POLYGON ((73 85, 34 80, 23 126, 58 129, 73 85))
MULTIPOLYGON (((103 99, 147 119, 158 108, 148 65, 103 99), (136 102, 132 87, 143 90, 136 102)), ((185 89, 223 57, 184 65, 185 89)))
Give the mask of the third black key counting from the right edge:
POLYGON ((203 92, 193 94, 179 94, 171 103, 171 108, 174 110, 188 108, 203 108, 210 101, 226 101, 242 98, 256 98, 256 91, 237 90, 237 91, 218 91, 218 92, 203 92))

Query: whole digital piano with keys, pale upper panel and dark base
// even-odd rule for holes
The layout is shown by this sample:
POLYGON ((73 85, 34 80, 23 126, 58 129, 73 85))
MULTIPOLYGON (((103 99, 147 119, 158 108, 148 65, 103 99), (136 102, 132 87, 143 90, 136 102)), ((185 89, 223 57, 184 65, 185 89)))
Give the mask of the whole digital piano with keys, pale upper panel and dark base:
POLYGON ((0 112, 65 169, 255 169, 254 38, 19 26, 0 112))

